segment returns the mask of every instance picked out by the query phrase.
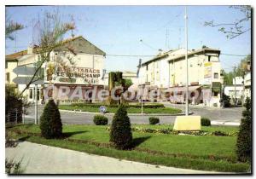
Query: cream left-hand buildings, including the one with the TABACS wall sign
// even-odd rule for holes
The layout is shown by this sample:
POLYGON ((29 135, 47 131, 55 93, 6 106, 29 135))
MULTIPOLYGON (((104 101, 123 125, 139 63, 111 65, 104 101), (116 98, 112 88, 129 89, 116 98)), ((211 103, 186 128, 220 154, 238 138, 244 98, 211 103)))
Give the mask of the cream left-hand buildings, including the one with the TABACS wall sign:
MULTIPOLYGON (((42 61, 42 53, 38 53, 38 48, 29 47, 13 55, 7 55, 6 61, 11 64, 16 61, 16 66, 36 67, 42 61)), ((88 101, 86 96, 91 95, 91 90, 96 91, 103 88, 102 72, 105 61, 105 52, 95 45, 79 36, 63 41, 59 46, 49 53, 49 61, 42 65, 44 77, 43 84, 38 84, 38 102, 44 103, 45 96, 55 99, 60 103, 70 103, 78 101, 88 101), (81 96, 78 95, 81 91, 81 96), (60 90, 68 92, 60 95, 60 90), (85 95, 90 90, 90 94, 85 95), (47 93, 47 94, 45 94, 47 93), (71 99, 71 97, 73 99, 71 99)), ((15 66, 9 66, 6 70, 11 72, 15 66)), ((23 75, 26 76, 26 75, 23 75)), ((17 75, 9 73, 9 81, 17 75), (12 75, 12 76, 11 76, 12 75)), ((17 89, 22 91, 26 84, 19 84, 17 89)), ((35 101, 35 84, 31 84, 24 92, 29 101, 35 101)), ((91 101, 91 100, 90 100, 91 101)))

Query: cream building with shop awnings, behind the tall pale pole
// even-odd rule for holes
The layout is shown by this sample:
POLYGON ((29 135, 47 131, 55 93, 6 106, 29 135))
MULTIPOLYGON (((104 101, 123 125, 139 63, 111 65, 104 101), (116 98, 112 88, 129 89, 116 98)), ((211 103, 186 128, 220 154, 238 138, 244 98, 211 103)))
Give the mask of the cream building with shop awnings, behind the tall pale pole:
MULTIPOLYGON (((189 50, 189 102, 220 107, 223 76, 219 62, 220 50, 203 48, 189 50), (195 96, 195 94, 197 94, 195 96)), ((139 83, 148 90, 159 89, 169 93, 171 102, 185 101, 186 61, 185 49, 160 53, 143 63, 139 83), (175 95, 175 96, 174 96, 175 95)))

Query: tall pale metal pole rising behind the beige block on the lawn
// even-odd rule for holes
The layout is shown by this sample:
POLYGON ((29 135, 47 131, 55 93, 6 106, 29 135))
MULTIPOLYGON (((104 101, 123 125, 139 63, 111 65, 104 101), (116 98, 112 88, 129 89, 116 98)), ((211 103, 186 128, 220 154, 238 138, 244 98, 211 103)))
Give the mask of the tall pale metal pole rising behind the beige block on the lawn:
POLYGON ((188 15, 185 7, 185 43, 186 43, 186 116, 189 115, 189 62, 188 62, 188 15))

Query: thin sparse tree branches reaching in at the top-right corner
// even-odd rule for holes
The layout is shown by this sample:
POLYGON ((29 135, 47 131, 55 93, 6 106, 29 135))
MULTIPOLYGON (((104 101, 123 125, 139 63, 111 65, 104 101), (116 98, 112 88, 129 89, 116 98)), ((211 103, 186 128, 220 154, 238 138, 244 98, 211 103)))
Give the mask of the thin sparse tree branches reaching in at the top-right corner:
MULTIPOLYGON (((230 23, 217 23, 215 24, 213 20, 205 21, 204 26, 219 26, 218 31, 226 34, 226 38, 232 39, 240 36, 245 32, 251 31, 251 27, 246 27, 247 21, 251 20, 251 6, 230 6, 232 9, 237 9, 242 13, 242 17, 239 20, 230 23)), ((251 22, 249 21, 249 24, 251 22)))

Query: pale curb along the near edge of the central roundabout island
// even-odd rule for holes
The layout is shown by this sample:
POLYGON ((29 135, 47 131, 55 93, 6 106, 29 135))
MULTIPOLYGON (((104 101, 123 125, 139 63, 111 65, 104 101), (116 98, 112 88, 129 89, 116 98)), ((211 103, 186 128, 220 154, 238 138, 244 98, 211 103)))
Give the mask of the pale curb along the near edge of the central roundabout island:
MULTIPOLYGON (((82 111, 71 111, 60 109, 60 112, 67 112, 67 113, 84 113, 84 114, 102 114, 102 113, 95 113, 95 112, 82 112, 82 111)), ((114 113, 104 113, 106 115, 113 115, 114 113)), ((193 114, 193 112, 189 112, 189 115, 193 114)), ((130 116, 183 116, 185 113, 176 113, 176 114, 168 114, 168 113, 128 113, 130 116)))

